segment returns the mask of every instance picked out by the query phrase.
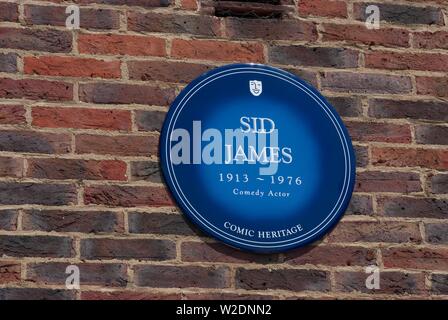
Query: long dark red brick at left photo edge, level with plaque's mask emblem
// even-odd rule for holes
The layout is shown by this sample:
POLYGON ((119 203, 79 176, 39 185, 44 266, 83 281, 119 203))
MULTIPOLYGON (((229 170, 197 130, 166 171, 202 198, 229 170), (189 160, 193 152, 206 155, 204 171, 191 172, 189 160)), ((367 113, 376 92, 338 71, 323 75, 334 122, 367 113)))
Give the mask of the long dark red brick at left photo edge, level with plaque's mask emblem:
POLYGON ((0 98, 69 101, 73 100, 73 85, 37 79, 0 78, 0 98))

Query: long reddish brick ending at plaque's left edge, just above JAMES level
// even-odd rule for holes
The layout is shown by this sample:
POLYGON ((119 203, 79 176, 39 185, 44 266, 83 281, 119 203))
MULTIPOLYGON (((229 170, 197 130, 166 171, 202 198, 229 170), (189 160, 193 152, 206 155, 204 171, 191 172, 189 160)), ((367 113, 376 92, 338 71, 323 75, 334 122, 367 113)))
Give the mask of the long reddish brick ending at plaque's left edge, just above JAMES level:
POLYGON ((102 136, 80 134, 76 136, 76 153, 110 154, 149 157, 158 153, 159 137, 151 136, 102 136))

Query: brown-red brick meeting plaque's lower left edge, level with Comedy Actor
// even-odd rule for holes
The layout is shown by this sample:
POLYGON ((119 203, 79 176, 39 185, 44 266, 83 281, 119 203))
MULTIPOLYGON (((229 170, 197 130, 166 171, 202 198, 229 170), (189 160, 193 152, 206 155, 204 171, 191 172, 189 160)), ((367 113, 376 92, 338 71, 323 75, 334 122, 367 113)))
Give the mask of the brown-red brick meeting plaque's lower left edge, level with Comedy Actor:
POLYGON ((167 190, 153 186, 90 186, 84 190, 86 204, 118 207, 172 206, 167 190))

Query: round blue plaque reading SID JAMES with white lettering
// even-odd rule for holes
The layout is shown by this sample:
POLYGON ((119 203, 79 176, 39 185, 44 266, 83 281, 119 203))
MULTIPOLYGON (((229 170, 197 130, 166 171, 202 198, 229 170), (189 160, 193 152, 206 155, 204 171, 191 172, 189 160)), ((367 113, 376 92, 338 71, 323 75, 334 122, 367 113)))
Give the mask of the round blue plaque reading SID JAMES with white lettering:
POLYGON ((191 82, 167 114, 160 158, 173 197, 200 229, 255 252, 322 237, 355 181, 353 146, 333 107, 295 75, 257 64, 191 82))

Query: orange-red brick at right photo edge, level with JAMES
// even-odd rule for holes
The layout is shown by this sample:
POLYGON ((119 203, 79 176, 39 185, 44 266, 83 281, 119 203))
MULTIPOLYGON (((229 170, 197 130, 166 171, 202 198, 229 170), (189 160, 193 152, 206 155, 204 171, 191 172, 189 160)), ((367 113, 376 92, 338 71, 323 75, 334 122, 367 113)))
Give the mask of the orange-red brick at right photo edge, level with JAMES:
POLYGON ((448 169, 448 150, 373 147, 372 163, 388 167, 448 169))

